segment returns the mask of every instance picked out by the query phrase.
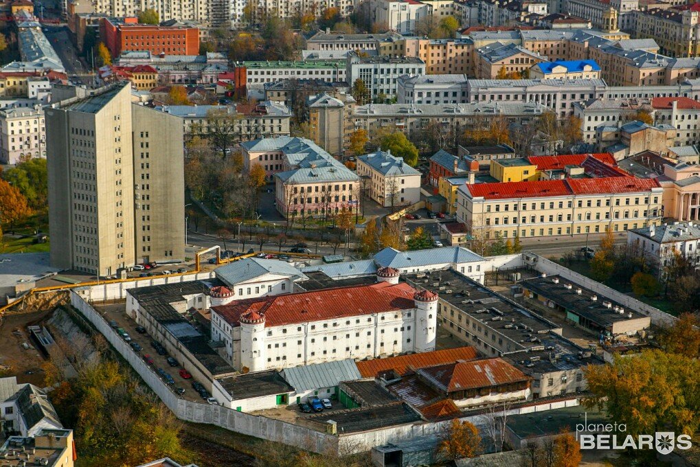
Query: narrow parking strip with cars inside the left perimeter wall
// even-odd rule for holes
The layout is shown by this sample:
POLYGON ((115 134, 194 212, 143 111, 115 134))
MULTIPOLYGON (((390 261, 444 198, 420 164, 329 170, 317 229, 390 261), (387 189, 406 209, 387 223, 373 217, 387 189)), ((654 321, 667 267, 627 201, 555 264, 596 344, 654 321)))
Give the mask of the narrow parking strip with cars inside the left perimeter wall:
MULTIPOLYGON (((192 382, 195 381, 195 379, 184 379, 179 375, 179 371, 182 368, 181 366, 178 365, 176 367, 172 367, 167 363, 166 358, 168 355, 158 355, 158 352, 156 352, 155 348, 153 348, 151 345, 151 342, 153 342, 151 337, 148 334, 141 334, 137 332, 137 323, 127 316, 125 312, 125 303, 122 302, 114 305, 94 305, 94 308, 99 314, 104 316, 106 321, 116 321, 118 326, 123 328, 127 334, 130 335, 132 342, 138 342, 139 345, 143 347, 143 349, 137 352, 137 354, 139 354, 141 358, 143 358, 144 355, 149 355, 151 358, 153 358, 153 365, 151 365, 153 372, 155 372, 156 368, 162 368, 173 377, 175 380, 175 385, 172 386, 168 384, 167 386, 170 389, 174 390, 175 387, 185 389, 184 395, 181 396, 178 394, 179 397, 202 402, 202 397, 200 394, 192 388, 192 382)), ((134 349, 132 349, 132 351, 134 351, 134 349)), ((204 384, 204 382, 201 383, 204 384)), ((205 384, 205 386, 207 385, 205 384)))

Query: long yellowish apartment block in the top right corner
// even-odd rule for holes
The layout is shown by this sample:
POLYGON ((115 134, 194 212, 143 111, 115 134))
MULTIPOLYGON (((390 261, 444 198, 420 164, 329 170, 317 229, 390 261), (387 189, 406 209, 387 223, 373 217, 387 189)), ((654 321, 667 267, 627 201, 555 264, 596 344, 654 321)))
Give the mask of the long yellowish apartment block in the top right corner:
POLYGON ((660 52, 670 57, 700 55, 700 5, 636 11, 635 37, 654 39, 660 52))

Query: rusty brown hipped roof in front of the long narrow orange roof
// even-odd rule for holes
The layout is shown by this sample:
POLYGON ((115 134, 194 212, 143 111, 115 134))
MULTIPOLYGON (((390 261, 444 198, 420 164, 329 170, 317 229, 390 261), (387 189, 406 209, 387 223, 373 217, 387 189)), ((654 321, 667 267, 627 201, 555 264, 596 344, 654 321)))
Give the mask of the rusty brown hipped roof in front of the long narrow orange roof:
POLYGON ((421 368, 416 373, 445 392, 527 381, 523 372, 501 358, 486 358, 421 368))

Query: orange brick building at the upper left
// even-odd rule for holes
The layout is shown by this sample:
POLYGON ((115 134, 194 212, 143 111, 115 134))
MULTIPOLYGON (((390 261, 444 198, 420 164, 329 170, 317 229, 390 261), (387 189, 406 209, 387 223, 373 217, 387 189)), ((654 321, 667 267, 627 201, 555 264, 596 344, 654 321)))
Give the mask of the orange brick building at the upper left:
POLYGON ((123 51, 148 50, 154 55, 199 55, 196 27, 139 25, 137 18, 102 18, 99 35, 112 57, 123 51))

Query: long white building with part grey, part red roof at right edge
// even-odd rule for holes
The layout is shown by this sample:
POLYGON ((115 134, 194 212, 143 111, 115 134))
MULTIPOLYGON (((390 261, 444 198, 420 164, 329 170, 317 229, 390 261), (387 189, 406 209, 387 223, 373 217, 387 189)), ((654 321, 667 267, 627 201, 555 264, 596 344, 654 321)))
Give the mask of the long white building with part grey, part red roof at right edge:
POLYGON ((594 99, 574 104, 574 115, 582 120, 584 141, 595 141, 601 127, 619 127, 636 112, 648 113, 655 125, 675 128, 675 144, 691 146, 700 142, 700 102, 689 97, 650 99, 594 99))

